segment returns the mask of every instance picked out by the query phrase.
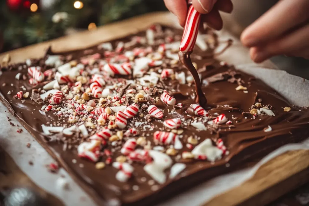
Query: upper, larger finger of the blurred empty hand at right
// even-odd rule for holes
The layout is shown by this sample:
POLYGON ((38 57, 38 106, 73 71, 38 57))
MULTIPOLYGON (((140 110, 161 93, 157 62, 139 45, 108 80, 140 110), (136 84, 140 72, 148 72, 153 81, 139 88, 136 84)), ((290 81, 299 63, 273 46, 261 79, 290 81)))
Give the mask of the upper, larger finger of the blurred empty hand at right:
POLYGON ((308 0, 282 0, 267 11, 248 28, 241 41, 245 46, 252 47, 276 39, 291 28, 309 19, 308 0))

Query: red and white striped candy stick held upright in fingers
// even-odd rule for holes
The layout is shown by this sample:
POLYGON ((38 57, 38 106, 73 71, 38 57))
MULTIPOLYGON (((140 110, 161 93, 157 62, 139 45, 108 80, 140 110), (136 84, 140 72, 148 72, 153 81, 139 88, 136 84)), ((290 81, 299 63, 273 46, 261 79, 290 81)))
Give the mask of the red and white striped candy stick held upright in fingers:
POLYGON ((193 50, 200 22, 201 13, 196 11, 193 5, 191 5, 187 14, 187 20, 184 26, 184 34, 182 36, 179 47, 179 50, 182 53, 188 53, 193 50))

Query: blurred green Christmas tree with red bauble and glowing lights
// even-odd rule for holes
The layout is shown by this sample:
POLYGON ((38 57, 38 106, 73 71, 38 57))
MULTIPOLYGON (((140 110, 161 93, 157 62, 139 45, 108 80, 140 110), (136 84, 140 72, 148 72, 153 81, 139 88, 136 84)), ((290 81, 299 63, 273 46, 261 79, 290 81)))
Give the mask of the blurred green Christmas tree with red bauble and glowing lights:
POLYGON ((4 52, 166 8, 163 0, 2 0, 0 10, 4 52))

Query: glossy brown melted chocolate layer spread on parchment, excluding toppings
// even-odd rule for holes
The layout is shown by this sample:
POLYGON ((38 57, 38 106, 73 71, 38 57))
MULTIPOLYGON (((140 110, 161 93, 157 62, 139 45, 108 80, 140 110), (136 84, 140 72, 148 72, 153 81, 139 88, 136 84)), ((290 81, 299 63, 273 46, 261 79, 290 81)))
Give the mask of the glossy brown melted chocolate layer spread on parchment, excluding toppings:
MULTIPOLYGON (((173 30, 173 32, 175 32, 175 36, 180 36, 181 34, 181 31, 178 30, 173 30)), ((143 36, 145 32, 141 32, 138 35, 143 36)), ((118 41, 115 40, 112 44, 115 45, 118 41)), ((129 37, 122 39, 122 41, 129 41, 129 37)), ((158 44, 152 47, 156 50, 158 44)), ((98 50, 97 47, 90 48, 87 52, 91 54, 103 54, 103 50, 98 50)), ((67 117, 59 117, 55 110, 51 112, 41 111, 40 108, 42 105, 48 105, 46 102, 39 105, 29 98, 25 99, 24 102, 13 98, 13 95, 20 91, 22 86, 31 93, 32 86, 28 83, 28 79, 15 79, 15 75, 19 72, 27 75, 27 69, 19 70, 17 69, 18 65, 16 65, 12 69, 3 70, 3 74, 0 76, 0 85, 2 85, 0 87, 1 101, 99 205, 115 205, 116 203, 122 205, 155 204, 169 198, 171 195, 176 194, 176 192, 183 191, 190 186, 216 175, 239 168, 244 162, 252 158, 265 155, 286 143, 301 141, 309 135, 309 111, 307 109, 290 105, 286 99, 264 82, 235 70, 233 66, 214 60, 212 58, 213 55, 211 55, 212 52, 212 49, 209 49, 207 52, 202 52, 198 48, 195 48, 191 56, 192 61, 197 63, 198 68, 201 68, 198 70, 202 75, 203 83, 201 89, 208 100, 207 111, 210 120, 220 114, 225 114, 232 121, 232 124, 211 126, 206 123, 206 131, 197 130, 190 124, 182 124, 181 129, 183 132, 181 133, 181 141, 183 142, 184 148, 180 149, 178 154, 192 150, 192 148, 188 149, 186 147, 188 138, 191 136, 196 138, 198 143, 201 143, 207 138, 212 139, 214 142, 218 138, 221 138, 229 153, 223 155, 221 159, 215 162, 183 159, 177 155, 171 156, 173 163, 183 162, 186 164, 186 168, 177 174, 176 177, 167 179, 163 184, 156 183, 143 170, 143 163, 133 163, 134 172, 132 178, 126 183, 121 183, 115 178, 118 170, 114 167, 106 166, 104 169, 99 170, 95 168, 95 163, 78 157, 75 146, 85 140, 81 140, 81 138, 78 141, 71 139, 70 142, 73 142, 71 144, 72 148, 65 150, 63 149, 65 142, 63 139, 62 141, 59 139, 57 139, 58 141, 50 141, 50 137, 42 133, 42 124, 64 125, 66 127, 71 124, 67 122, 67 117), (214 75, 216 77, 222 76, 223 78, 217 78, 214 81, 214 75), (206 81, 209 79, 213 81, 206 81), (235 90, 239 84, 247 87, 247 89, 235 90), (9 94, 10 92, 11 94, 9 94), (271 109, 275 116, 265 114, 253 116, 250 114, 250 110, 257 108, 256 106, 252 106, 256 103, 261 103, 261 107, 271 109), (290 107, 291 110, 286 112, 283 109, 284 107, 290 107), (272 130, 265 132, 264 128, 268 125, 271 126, 272 130)), ((86 56, 85 51, 73 51, 61 55, 64 55, 67 59, 77 61, 81 57, 86 56)), ((171 64, 169 64, 170 59, 164 57, 163 60, 167 63, 160 66, 159 69, 171 68, 171 64)), ((44 66, 42 61, 39 60, 33 61, 32 65, 41 65, 44 71, 49 69, 49 67, 44 66)), ((173 69, 175 72, 187 73, 187 70, 180 63, 173 69)), ((154 69, 154 71, 158 70, 154 69)), ((124 77, 116 81, 125 81, 122 78, 124 77)), ((125 77, 124 79, 128 78, 131 77, 125 77)), ((41 83, 37 88, 41 88, 43 85, 41 83)), ((195 86, 192 83, 179 84, 175 79, 167 79, 160 81, 155 86, 158 89, 162 87, 164 90, 171 91, 170 94, 175 97, 176 102, 182 103, 184 107, 173 107, 159 101, 154 104, 163 111, 163 120, 150 119, 149 122, 145 122, 145 116, 148 114, 146 110, 139 112, 143 116, 137 115, 134 119, 128 120, 127 128, 136 128, 140 136, 146 137, 152 146, 156 145, 153 141, 153 133, 157 130, 168 130, 163 127, 164 120, 180 118, 182 123, 193 122, 193 120, 200 121, 200 117, 188 116, 186 113, 188 107, 192 103, 195 103, 196 99, 194 95, 195 86)), ((155 94, 152 97, 155 99, 155 97, 160 97, 160 95, 155 94)), ((148 100, 143 101, 144 103, 139 102, 140 108, 142 105, 146 105, 145 102, 148 102, 148 100)), ((95 131, 91 132, 89 130, 89 132, 93 134, 95 131)), ((68 139, 70 137, 67 137, 66 140, 68 139)), ((118 149, 112 153, 113 160, 121 154, 119 150, 124 142, 119 141, 118 149)), ((194 148, 196 145, 192 146, 194 148)), ((113 149, 114 146, 108 144, 107 148, 113 149)), ((164 149, 167 148, 167 146, 164 146, 164 149)), ((106 157, 103 156, 102 159, 105 160, 106 157)), ((168 175, 170 170, 166 170, 165 173, 168 175)))

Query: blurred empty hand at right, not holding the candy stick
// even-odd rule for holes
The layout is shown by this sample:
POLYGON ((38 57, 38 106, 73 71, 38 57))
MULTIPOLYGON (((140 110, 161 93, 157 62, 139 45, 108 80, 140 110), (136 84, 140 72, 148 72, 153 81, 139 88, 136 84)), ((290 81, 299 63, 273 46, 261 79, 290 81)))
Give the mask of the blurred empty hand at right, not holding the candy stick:
POLYGON ((247 27, 242 43, 250 47, 253 61, 272 56, 309 58, 309 1, 281 0, 247 27))

